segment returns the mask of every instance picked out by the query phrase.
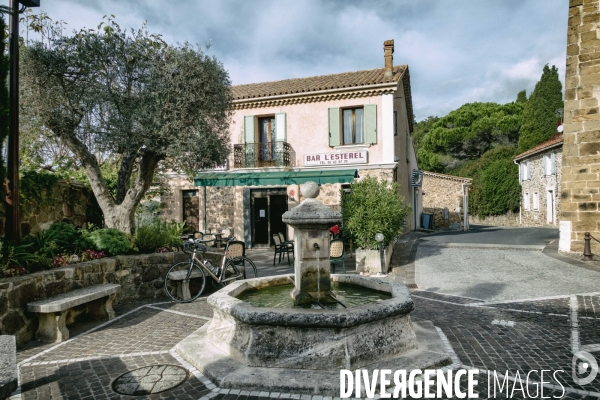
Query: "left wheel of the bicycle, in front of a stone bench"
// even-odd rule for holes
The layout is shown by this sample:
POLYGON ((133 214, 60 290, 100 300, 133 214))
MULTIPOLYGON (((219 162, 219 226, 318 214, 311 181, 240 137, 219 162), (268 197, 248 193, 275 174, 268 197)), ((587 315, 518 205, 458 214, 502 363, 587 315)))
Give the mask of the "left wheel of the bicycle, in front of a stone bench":
POLYGON ((178 303, 196 300, 204 291, 205 285, 206 276, 196 262, 192 264, 191 271, 189 261, 173 264, 165 275, 165 293, 178 303))

